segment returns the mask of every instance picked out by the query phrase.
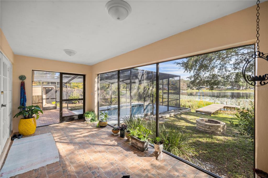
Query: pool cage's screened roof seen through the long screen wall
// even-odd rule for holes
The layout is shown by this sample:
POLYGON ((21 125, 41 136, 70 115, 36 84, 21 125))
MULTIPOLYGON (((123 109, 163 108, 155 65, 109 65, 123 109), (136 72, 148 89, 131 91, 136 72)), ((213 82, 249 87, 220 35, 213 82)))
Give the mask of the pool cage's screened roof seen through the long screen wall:
MULTIPOLYGON (((156 72, 143 69, 125 69, 120 71, 120 84, 143 83, 156 81, 156 72)), ((159 80, 180 77, 179 75, 159 72, 159 80)), ((99 75, 99 83, 117 83, 117 71, 99 75)))

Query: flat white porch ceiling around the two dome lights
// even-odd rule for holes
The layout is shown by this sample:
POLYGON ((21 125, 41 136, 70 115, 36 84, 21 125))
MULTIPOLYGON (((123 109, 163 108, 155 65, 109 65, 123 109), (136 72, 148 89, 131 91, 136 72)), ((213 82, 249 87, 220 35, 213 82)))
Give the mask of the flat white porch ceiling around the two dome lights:
POLYGON ((1 29, 17 55, 92 65, 256 3, 127 1, 132 13, 115 21, 107 2, 1 0, 1 29), (63 49, 77 54, 67 56, 63 49))

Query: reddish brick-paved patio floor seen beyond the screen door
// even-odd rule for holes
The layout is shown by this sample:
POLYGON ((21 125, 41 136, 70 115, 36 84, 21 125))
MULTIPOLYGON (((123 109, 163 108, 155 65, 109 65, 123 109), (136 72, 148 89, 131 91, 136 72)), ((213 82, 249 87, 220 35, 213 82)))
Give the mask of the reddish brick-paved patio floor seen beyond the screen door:
MULTIPOLYGON (((36 126, 44 126, 59 123, 59 109, 44 110, 44 114, 36 120, 36 126)), ((62 116, 75 115, 69 109, 62 109, 62 116)))

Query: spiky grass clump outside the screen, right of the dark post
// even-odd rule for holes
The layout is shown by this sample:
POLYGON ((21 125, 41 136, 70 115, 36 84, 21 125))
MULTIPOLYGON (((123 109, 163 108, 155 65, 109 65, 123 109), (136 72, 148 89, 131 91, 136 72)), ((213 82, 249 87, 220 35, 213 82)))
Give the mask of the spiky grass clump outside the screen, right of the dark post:
POLYGON ((191 160, 195 154, 189 134, 183 133, 177 127, 166 128, 162 125, 159 129, 159 137, 164 141, 163 149, 181 158, 191 160))

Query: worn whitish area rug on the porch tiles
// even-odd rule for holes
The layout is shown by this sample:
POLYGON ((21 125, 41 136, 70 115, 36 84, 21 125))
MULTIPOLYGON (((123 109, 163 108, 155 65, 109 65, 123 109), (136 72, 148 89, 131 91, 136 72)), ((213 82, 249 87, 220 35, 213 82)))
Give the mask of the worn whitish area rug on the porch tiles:
POLYGON ((12 177, 59 161, 51 133, 15 139, 1 170, 1 178, 12 177))

